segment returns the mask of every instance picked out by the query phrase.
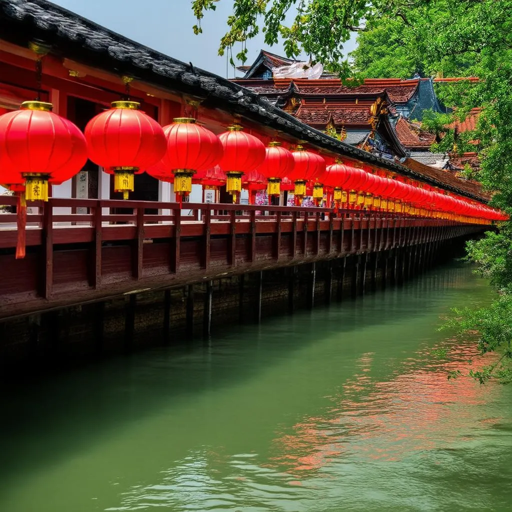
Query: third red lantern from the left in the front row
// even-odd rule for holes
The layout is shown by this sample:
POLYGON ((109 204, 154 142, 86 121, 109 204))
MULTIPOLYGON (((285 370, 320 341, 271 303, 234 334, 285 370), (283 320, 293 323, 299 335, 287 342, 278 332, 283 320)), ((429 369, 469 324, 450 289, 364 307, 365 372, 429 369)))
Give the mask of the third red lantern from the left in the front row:
POLYGON ((205 172, 219 162, 222 146, 216 135, 196 124, 190 117, 177 117, 164 127, 167 151, 163 158, 147 168, 148 174, 174 179, 174 192, 180 198, 192 191, 192 177, 205 172))

